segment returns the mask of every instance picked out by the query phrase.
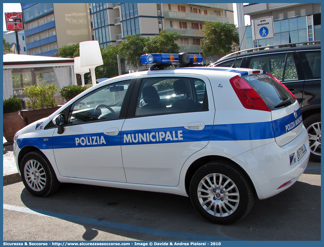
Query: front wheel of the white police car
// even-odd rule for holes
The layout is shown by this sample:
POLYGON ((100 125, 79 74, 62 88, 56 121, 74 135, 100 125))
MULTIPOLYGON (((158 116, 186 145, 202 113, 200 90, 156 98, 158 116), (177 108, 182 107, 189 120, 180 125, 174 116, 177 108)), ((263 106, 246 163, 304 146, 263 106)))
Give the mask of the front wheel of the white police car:
POLYGON ((60 187, 51 164, 40 151, 30 152, 23 157, 20 172, 26 189, 34 196, 49 196, 60 187))

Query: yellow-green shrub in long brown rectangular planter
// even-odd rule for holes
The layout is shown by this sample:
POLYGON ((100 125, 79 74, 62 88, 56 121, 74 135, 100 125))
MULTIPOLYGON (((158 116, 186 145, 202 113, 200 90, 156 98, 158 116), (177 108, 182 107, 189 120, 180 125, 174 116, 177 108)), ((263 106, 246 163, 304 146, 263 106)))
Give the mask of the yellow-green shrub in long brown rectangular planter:
POLYGON ((61 106, 54 98, 57 91, 55 85, 48 86, 25 86, 24 93, 29 100, 27 101, 27 110, 21 110, 20 114, 26 121, 26 124, 33 123, 41 118, 47 117, 55 112, 61 106))

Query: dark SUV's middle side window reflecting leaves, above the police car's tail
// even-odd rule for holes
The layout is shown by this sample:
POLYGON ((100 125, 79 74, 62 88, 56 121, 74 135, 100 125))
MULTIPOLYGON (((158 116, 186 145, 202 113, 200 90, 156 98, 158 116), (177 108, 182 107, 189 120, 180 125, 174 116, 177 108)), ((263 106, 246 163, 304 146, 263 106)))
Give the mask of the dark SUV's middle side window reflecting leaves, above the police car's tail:
POLYGON ((251 57, 250 69, 265 70, 279 81, 298 80, 295 61, 292 53, 274 53, 251 57))

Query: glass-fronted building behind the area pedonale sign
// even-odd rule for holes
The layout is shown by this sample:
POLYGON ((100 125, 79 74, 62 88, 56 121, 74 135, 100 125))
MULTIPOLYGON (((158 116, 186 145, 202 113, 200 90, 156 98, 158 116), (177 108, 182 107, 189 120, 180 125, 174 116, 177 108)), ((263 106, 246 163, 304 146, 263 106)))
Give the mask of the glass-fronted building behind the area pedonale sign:
POLYGON ((251 26, 247 28, 247 48, 321 40, 320 3, 258 3, 243 8, 251 20, 267 16, 273 16, 274 20, 274 38, 259 43, 252 40, 251 26))

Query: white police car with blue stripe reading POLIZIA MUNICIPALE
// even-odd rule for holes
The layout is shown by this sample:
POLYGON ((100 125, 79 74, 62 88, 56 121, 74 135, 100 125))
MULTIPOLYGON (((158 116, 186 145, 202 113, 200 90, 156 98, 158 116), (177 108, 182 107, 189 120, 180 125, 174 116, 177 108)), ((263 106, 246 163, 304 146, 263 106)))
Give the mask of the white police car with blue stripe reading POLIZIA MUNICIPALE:
POLYGON ((151 69, 101 82, 15 135, 30 193, 48 196, 60 182, 172 193, 227 224, 301 176, 310 154, 301 110, 272 75, 192 67, 202 57, 187 53, 141 60, 151 69))

